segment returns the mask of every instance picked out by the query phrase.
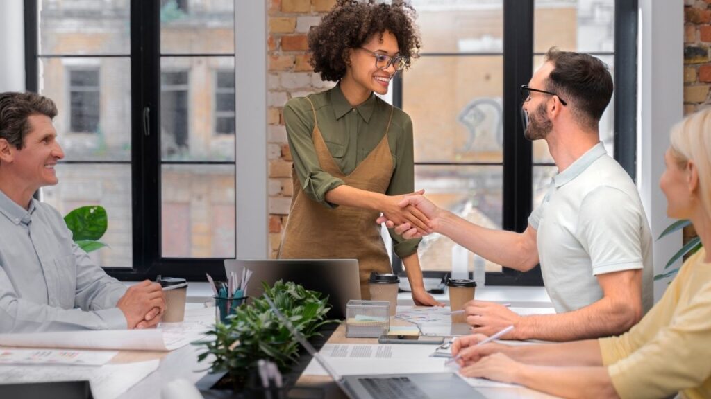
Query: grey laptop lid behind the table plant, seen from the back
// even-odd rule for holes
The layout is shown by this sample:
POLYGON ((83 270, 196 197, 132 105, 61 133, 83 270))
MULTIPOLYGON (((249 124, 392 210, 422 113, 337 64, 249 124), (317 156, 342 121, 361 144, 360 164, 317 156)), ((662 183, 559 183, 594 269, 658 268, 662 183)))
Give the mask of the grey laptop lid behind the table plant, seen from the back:
POLYGON ((225 274, 242 275, 252 271, 247 296, 261 297, 262 282, 273 285, 277 280, 293 281, 307 290, 328 295, 329 319, 346 319, 348 300, 360 300, 360 275, 357 259, 270 259, 263 261, 225 260, 225 274))

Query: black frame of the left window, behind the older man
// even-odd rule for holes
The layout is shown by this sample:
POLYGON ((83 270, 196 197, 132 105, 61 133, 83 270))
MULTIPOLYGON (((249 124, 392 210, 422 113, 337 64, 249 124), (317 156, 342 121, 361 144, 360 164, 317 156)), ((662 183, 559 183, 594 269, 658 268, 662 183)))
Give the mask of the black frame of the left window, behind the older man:
MULTIPOLYGON (((38 1, 24 0, 25 87, 38 92, 38 58, 127 58, 127 55, 40 55, 38 50, 38 1)), ((131 62, 131 173, 132 253, 130 268, 104 268, 120 280, 153 280, 171 275, 204 280, 205 273, 225 275, 225 258, 165 258, 161 256, 161 160, 160 97, 161 55, 168 57, 235 57, 232 53, 161 54, 161 1, 130 0, 131 62)), ((63 161, 63 163, 112 164, 128 161, 63 161)), ((179 161, 180 165, 232 165, 232 161, 179 161)), ((236 199, 235 199, 236 200, 236 199)), ((236 225, 236 217, 235 217, 236 225)), ((236 242, 235 242, 236 250, 236 242)))

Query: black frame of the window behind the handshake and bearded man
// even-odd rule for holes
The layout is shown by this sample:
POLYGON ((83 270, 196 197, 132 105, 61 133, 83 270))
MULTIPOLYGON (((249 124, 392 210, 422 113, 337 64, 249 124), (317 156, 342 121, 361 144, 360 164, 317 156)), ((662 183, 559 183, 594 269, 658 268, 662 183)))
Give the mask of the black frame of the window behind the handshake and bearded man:
MULTIPOLYGON (((637 34, 638 0, 616 0, 614 43, 614 158, 636 180, 637 126, 637 34)), ((533 144, 523 136, 519 109, 520 87, 533 75, 535 0, 503 0, 503 229, 523 232, 533 210, 533 166, 555 165, 533 162, 533 144)), ((592 55, 613 55, 596 52, 592 55)), ((487 56, 487 53, 422 53, 422 57, 487 56)), ((501 54, 496 54, 501 55, 501 54)), ((393 105, 402 108, 402 75, 392 84, 393 105)), ((405 78, 407 79, 407 78, 405 78)), ((407 112, 407 109, 405 109, 407 112)), ((415 165, 429 165, 418 163, 415 165)), ((467 166, 477 163, 437 163, 467 166)), ((477 164, 478 165, 478 164, 477 164)), ((485 165, 490 165, 486 163, 485 165)), ((491 163, 491 165, 500 165, 491 163)), ((402 262, 392 256, 395 273, 403 273, 402 262)), ((470 276, 471 276, 470 272, 470 276)), ((446 271, 424 271, 425 277, 444 278, 446 271)), ((503 268, 486 272, 486 285, 543 285, 540 265, 527 272, 503 268)))

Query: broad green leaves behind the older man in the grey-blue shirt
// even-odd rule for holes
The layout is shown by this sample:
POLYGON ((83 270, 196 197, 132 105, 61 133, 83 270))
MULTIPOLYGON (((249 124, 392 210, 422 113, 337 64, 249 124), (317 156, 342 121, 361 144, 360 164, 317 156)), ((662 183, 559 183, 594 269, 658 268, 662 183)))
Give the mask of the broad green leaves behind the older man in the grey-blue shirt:
POLYGON ((64 222, 72 232, 72 239, 84 251, 96 251, 107 246, 98 241, 109 225, 104 207, 92 205, 74 209, 64 217, 64 222))

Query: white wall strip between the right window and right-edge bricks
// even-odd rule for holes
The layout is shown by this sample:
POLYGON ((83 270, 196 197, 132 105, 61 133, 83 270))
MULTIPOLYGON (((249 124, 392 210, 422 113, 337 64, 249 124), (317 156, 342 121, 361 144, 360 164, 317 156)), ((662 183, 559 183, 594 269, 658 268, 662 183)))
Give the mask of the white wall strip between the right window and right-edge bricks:
MULTIPOLYGON (((654 239, 673 222, 666 217, 659 177, 669 129, 683 116, 683 9, 683 1, 639 0, 637 182, 654 239)), ((681 243, 680 232, 654 242, 655 274, 681 243)), ((655 300, 666 286, 665 280, 655 283, 655 300)))

